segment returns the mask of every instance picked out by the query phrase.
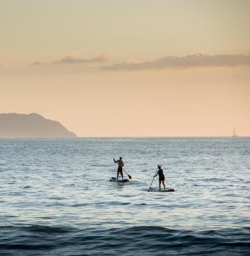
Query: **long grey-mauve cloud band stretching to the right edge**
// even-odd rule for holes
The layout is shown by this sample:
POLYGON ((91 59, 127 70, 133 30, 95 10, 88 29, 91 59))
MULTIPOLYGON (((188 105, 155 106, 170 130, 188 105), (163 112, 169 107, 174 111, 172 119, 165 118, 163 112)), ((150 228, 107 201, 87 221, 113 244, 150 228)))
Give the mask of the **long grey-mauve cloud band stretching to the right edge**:
POLYGON ((123 62, 111 66, 102 66, 100 70, 145 70, 166 68, 196 68, 196 67, 236 67, 250 66, 250 54, 217 54, 208 55, 198 52, 184 57, 167 56, 147 62, 123 62))

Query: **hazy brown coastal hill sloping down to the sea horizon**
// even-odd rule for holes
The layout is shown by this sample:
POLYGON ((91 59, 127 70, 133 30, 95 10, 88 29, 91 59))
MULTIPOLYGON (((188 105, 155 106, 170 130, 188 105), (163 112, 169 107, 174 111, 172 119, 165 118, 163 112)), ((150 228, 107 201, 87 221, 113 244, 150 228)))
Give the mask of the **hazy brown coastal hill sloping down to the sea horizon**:
POLYGON ((74 138, 76 134, 69 132, 61 123, 45 119, 36 113, 0 114, 0 137, 18 138, 74 138))

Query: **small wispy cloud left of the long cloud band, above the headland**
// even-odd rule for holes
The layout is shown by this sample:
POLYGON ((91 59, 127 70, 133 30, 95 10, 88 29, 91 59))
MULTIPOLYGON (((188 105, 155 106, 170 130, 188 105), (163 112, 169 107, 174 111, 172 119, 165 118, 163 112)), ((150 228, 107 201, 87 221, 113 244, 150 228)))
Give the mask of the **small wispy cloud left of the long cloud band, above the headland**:
POLYGON ((103 53, 98 57, 92 59, 83 59, 79 57, 75 57, 74 53, 68 54, 65 57, 59 58, 55 60, 52 64, 74 64, 74 63, 94 63, 94 62, 104 62, 109 58, 109 53, 103 53))

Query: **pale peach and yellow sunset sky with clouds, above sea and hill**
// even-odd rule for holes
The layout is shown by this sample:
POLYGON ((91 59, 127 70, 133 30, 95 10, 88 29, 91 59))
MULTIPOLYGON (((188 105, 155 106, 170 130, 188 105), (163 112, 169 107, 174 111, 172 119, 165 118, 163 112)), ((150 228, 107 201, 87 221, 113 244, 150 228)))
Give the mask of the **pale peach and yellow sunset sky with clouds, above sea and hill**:
POLYGON ((81 137, 250 136, 250 1, 0 0, 0 113, 81 137))

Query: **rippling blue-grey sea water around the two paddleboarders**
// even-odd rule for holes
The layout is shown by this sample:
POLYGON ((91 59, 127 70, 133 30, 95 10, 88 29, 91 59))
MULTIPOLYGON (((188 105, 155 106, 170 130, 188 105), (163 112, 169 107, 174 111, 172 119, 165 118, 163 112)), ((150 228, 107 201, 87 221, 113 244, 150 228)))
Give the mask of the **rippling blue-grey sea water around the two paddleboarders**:
POLYGON ((250 254, 250 138, 0 139, 0 152, 0 255, 250 254), (126 184, 109 182, 120 156, 126 184), (147 192, 157 164, 174 193, 147 192))

